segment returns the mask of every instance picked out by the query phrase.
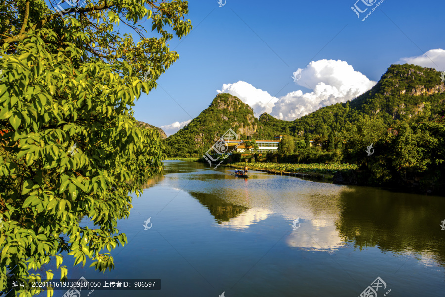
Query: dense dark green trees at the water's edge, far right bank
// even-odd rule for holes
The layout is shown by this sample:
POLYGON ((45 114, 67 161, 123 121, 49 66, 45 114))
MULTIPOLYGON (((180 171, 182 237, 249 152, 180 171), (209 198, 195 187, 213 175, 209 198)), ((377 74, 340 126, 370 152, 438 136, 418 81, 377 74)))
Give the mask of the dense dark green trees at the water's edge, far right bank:
POLYGON ((363 170, 358 182, 413 186, 444 194, 445 123, 400 122, 395 129, 397 135, 385 135, 374 143, 375 151, 371 156, 350 152, 363 170))

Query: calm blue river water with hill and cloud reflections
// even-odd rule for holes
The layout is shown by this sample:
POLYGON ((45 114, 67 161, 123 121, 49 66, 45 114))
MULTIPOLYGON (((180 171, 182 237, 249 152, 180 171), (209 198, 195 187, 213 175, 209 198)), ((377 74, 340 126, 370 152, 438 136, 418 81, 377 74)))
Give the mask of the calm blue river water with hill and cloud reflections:
POLYGON ((445 296, 444 197, 258 171, 238 179, 195 162, 165 169, 119 221, 129 243, 112 251, 114 270, 63 262, 69 278, 160 278, 161 290, 89 297, 445 296))

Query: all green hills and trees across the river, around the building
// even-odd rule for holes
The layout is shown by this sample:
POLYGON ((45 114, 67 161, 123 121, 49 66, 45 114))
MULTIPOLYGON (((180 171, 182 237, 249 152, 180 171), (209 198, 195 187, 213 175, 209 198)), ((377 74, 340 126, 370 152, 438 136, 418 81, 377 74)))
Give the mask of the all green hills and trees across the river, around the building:
POLYGON ((221 94, 190 123, 193 125, 167 139, 168 153, 170 156, 201 156, 229 128, 237 131, 242 124, 246 131, 246 127, 257 125, 253 133, 257 139, 285 135, 277 155, 243 157, 233 154, 227 156, 224 163, 246 158, 255 158, 257 162, 277 160, 326 166, 351 163, 356 166, 339 172, 354 175, 355 183, 388 186, 423 183, 419 188, 437 189, 443 184, 440 178, 444 179, 445 175, 441 134, 445 114, 443 86, 440 73, 434 69, 391 65, 377 85, 358 98, 320 108, 292 122, 275 119, 266 113, 257 122, 250 107, 238 98, 221 94), (311 147, 310 139, 313 139, 311 147), (203 144, 201 150, 196 149, 196 143, 198 147, 203 144), (375 153, 368 156, 368 148, 375 153), (357 167, 361 170, 358 175, 347 171, 357 167))

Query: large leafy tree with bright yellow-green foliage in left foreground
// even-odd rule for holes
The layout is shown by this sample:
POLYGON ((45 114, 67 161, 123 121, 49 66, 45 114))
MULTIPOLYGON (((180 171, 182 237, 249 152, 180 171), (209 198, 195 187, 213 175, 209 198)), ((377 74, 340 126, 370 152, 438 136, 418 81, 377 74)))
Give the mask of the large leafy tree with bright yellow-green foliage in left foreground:
POLYGON ((23 278, 65 278, 60 253, 75 265, 89 258, 96 270, 112 269, 104 252, 127 243, 117 220, 130 213, 130 193, 139 195, 162 170, 160 135, 137 125, 132 106, 178 59, 167 43, 190 31, 188 3, 95 2, 64 18, 44 0, 0 3, 0 292, 7 296, 40 292, 12 287, 23 278), (137 44, 113 30, 120 20, 137 30, 137 44), (133 26, 142 20, 158 37, 133 26), (82 217, 94 229, 79 225, 82 217), (30 274, 51 260, 59 271, 30 274))

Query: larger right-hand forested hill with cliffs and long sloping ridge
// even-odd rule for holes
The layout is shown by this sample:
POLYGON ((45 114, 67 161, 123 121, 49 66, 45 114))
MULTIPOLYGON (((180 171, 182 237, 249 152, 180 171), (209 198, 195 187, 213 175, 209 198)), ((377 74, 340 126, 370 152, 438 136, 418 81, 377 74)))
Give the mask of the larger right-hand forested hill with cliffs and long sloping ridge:
POLYGON ((348 124, 368 115, 388 126, 398 121, 412 123, 417 117, 434 117, 444 109, 445 85, 440 72, 412 64, 391 65, 379 82, 356 99, 322 107, 294 121, 283 121, 268 114, 260 122, 277 133, 289 129, 293 136, 302 136, 308 129, 315 135, 345 132, 348 124))

